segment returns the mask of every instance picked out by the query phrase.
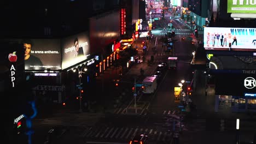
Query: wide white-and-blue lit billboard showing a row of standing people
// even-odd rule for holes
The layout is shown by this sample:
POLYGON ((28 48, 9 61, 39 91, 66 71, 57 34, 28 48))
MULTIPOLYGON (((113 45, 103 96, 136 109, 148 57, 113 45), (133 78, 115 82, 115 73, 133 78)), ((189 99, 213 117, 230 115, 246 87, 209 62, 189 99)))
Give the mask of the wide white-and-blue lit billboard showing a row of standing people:
POLYGON ((206 50, 256 51, 256 28, 205 27, 206 50))

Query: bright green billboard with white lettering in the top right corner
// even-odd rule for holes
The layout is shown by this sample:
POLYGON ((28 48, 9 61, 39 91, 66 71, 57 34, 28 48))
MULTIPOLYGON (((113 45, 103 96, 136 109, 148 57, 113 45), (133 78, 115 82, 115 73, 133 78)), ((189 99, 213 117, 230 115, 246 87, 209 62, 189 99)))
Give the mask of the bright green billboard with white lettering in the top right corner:
POLYGON ((256 13, 256 1, 228 0, 228 13, 256 13))

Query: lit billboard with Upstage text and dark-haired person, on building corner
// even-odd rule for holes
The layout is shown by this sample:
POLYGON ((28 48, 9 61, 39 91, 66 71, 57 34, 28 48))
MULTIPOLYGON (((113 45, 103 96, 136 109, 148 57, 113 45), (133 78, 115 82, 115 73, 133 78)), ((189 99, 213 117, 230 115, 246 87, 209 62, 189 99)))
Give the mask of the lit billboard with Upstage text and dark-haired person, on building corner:
POLYGON ((89 38, 86 32, 63 38, 61 41, 62 69, 89 58, 89 38))

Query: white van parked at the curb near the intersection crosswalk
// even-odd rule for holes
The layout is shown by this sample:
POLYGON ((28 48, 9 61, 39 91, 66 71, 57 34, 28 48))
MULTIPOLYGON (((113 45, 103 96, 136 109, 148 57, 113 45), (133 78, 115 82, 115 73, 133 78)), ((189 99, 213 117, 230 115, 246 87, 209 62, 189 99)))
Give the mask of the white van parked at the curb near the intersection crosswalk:
POLYGON ((143 93, 154 93, 158 83, 156 82, 155 76, 147 76, 142 82, 144 89, 143 93))

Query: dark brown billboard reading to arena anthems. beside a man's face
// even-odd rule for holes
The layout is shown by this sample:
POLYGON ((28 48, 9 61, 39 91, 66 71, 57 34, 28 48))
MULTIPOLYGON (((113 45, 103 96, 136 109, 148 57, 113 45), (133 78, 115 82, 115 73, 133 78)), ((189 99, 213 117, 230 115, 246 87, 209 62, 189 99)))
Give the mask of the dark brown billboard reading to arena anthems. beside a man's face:
POLYGON ((60 39, 8 39, 24 48, 25 70, 60 70, 60 39))

